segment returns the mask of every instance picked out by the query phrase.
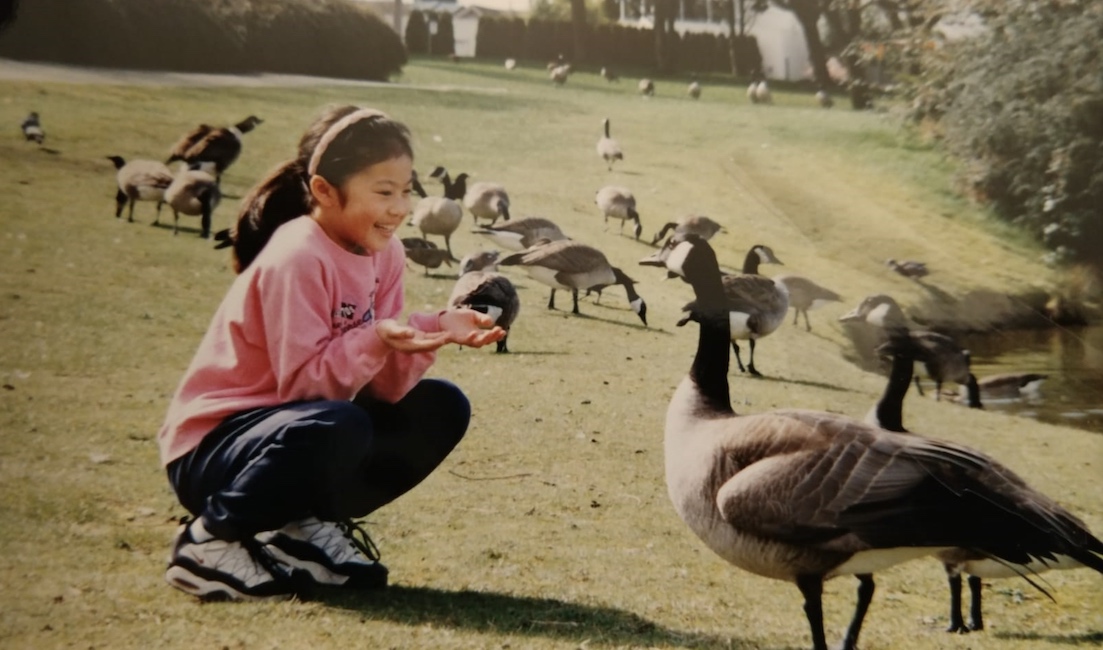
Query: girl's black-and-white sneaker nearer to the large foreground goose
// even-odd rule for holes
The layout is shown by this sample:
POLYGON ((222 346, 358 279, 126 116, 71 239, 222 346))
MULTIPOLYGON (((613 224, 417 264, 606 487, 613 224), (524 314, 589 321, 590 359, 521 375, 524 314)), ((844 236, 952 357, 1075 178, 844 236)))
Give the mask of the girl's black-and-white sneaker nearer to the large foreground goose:
POLYGON ((358 589, 387 586, 387 567, 379 564, 379 551, 355 522, 311 516, 260 533, 257 541, 278 562, 308 572, 320 585, 358 589))

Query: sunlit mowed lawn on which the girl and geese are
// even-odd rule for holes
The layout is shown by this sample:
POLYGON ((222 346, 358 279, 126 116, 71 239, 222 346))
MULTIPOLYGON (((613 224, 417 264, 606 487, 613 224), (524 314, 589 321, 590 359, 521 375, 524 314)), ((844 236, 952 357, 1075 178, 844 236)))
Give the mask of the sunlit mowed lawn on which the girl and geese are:
MULTIPOLYGON (((951 296, 1020 294, 1054 280, 1039 252, 1007 238, 951 191, 952 167, 889 116, 824 111, 777 93, 751 106, 742 88, 706 84, 699 102, 660 79, 578 74, 554 88, 539 68, 415 62, 387 87, 150 87, 0 82, 0 646, 4 648, 770 648, 808 646, 796 588, 736 569, 693 536, 663 481, 667 401, 688 370, 693 326, 676 328, 688 286, 636 266, 653 248, 606 230, 593 205, 609 183, 632 189, 649 239, 665 221, 707 214, 728 232, 721 263, 756 243, 846 298, 786 323, 758 348, 765 379, 732 370, 737 412, 828 409, 861 417, 884 380, 844 359, 836 318, 869 292, 927 298, 886 257, 924 259, 951 296), (447 90, 440 89, 447 86, 447 90), (232 281, 229 257, 191 230, 114 217, 104 157, 161 159, 197 122, 265 119, 224 177, 215 228, 237 199, 290 157, 328 103, 387 110, 416 139, 426 175, 503 183, 515 216, 542 215, 598 246, 640 280, 644 328, 620 288, 581 316, 560 294, 510 269, 523 310, 508 355, 448 349, 431 374, 470 395, 464 441, 420 487, 372 514, 392 569, 381 594, 322 594, 282 604, 201 605, 162 580, 183 514, 157 456, 168 401, 232 281), (42 115, 45 152, 14 125, 42 115), (603 117, 627 160, 608 172, 595 143, 603 117)), ((427 183, 430 191, 439 185, 427 183)), ((171 223, 171 212, 162 224, 171 223)), ((469 232, 458 255, 489 247, 469 232)), ((628 232, 628 230, 625 230, 628 232)), ((404 228, 403 235, 413 235, 404 228)), ((410 310, 437 309, 454 268, 407 274, 410 310)), ((1097 533, 1103 437, 909 397, 915 431, 975 446, 1061 501, 1097 533)), ((941 566, 878 576, 866 649, 1038 649, 1103 640, 1101 578, 1043 576, 1056 603, 1022 580, 986 589, 988 631, 949 636, 941 566)), ((849 618, 855 582, 827 585, 828 637, 849 618)))

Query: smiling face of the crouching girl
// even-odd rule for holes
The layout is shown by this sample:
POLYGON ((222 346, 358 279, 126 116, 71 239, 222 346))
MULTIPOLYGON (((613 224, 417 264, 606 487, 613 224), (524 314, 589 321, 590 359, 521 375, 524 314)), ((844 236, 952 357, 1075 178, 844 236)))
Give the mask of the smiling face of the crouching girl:
POLYGON ((377 162, 349 178, 340 189, 310 179, 318 202, 314 220, 325 234, 353 253, 386 249, 410 210, 414 161, 408 156, 377 162))

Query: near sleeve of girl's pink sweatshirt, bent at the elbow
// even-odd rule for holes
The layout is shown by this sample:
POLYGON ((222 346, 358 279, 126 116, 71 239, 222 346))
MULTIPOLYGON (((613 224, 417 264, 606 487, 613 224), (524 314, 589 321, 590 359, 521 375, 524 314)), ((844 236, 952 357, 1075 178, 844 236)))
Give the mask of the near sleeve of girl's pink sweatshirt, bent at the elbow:
POLYGON ((254 280, 280 402, 351 399, 392 355, 372 322, 334 335, 328 285, 336 280, 321 266, 300 259, 254 280))

